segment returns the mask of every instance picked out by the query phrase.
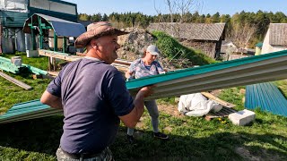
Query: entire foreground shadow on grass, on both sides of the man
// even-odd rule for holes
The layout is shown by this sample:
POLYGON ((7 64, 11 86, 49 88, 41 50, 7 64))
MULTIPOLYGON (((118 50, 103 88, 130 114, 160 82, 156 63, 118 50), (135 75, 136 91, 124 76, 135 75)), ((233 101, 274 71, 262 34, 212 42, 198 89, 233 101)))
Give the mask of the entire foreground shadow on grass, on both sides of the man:
MULTIPOLYGON (((55 156, 62 134, 63 116, 51 116, 0 125, 0 146, 55 156)), ((284 160, 286 137, 275 134, 218 132, 207 137, 170 135, 169 140, 152 137, 152 131, 136 131, 135 144, 125 140, 126 127, 120 127, 110 147, 117 160, 284 160), (248 143, 257 143, 249 144, 248 143), (258 145, 258 144, 261 145, 258 145), (263 148, 262 144, 269 148, 263 148), (242 148, 246 149, 243 150, 242 148), (241 149, 238 152, 237 149, 241 149), (240 154, 243 153, 243 154, 240 154), (252 157, 252 158, 251 158, 252 157)))

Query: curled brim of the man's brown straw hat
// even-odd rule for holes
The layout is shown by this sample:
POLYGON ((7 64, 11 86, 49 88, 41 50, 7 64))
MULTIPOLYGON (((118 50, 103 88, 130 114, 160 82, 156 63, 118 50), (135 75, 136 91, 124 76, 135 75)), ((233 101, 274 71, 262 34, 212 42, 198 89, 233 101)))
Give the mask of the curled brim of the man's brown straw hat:
POLYGON ((86 47, 87 44, 91 41, 91 39, 94 39, 94 38, 100 38, 100 37, 108 36, 108 35, 120 36, 120 35, 125 35, 127 33, 129 33, 129 32, 117 30, 117 29, 111 29, 111 30, 105 30, 105 31, 101 32, 100 34, 94 35, 94 31, 89 30, 89 31, 84 32, 78 38, 75 39, 74 47, 76 47, 76 48, 86 47))

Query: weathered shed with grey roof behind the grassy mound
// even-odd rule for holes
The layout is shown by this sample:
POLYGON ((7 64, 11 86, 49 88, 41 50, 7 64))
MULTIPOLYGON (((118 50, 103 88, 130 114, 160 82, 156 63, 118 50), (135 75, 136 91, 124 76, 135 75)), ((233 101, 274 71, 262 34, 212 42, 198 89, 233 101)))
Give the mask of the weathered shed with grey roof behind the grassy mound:
POLYGON ((183 45, 200 49, 212 58, 220 54, 225 38, 225 23, 151 23, 147 30, 164 31, 183 45))

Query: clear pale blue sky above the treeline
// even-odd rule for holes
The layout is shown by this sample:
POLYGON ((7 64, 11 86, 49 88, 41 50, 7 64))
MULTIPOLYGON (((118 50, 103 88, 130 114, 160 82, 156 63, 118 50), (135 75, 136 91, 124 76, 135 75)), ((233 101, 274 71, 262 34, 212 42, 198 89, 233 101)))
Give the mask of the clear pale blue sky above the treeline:
MULTIPOLYGON (((165 0, 64 0, 77 4, 78 13, 143 13, 146 15, 156 15, 158 13, 169 13, 165 0)), ((175 0, 171 0, 175 1, 175 0)), ((187 0, 178 0, 187 1, 187 0)), ((193 0, 194 4, 190 8, 190 13, 199 14, 216 12, 220 14, 230 14, 245 12, 283 12, 287 15, 286 0, 193 0)))

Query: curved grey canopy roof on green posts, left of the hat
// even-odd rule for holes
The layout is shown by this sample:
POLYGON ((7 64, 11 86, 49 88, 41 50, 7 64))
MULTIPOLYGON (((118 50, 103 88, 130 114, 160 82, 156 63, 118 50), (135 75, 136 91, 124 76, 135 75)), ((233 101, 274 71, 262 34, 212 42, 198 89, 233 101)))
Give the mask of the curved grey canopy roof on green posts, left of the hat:
POLYGON ((33 20, 33 25, 39 26, 38 16, 41 17, 42 23, 51 25, 58 37, 78 37, 85 28, 83 24, 76 23, 74 21, 65 21, 56 17, 48 16, 45 14, 34 13, 25 21, 23 31, 24 33, 30 33, 30 26, 28 24, 33 20))

